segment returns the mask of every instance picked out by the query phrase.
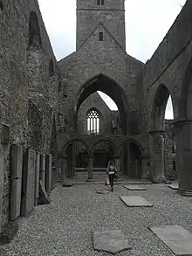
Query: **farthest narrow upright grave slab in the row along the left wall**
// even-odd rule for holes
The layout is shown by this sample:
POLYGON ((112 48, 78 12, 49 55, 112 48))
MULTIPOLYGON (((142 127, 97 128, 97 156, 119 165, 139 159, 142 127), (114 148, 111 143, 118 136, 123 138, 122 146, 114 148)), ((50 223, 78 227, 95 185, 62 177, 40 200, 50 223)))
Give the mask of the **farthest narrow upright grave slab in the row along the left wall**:
POLYGON ((52 188, 52 156, 46 154, 45 157, 45 190, 48 195, 51 193, 52 188))

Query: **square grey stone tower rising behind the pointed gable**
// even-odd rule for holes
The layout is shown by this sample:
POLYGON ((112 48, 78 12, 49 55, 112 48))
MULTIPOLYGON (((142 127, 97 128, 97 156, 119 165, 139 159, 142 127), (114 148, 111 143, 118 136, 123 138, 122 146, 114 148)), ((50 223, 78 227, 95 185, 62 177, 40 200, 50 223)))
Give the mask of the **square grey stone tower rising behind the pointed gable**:
POLYGON ((126 51, 125 0, 77 0, 76 50, 86 42, 99 24, 99 40, 105 38, 105 29, 126 51))

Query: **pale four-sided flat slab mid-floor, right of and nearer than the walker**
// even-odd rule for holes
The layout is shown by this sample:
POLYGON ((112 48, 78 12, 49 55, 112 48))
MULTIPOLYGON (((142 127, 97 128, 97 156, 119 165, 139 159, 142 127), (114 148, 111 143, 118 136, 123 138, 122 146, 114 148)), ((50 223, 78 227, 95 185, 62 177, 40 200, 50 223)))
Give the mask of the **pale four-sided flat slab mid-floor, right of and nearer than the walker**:
POLYGON ((127 204, 128 207, 153 207, 154 204, 149 203, 145 198, 140 196, 126 196, 120 199, 127 204))

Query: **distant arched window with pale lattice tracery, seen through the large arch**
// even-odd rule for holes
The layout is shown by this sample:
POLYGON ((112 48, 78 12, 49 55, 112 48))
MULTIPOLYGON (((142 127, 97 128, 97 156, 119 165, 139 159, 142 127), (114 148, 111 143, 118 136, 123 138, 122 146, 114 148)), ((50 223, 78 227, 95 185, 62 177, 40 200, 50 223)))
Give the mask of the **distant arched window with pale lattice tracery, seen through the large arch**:
POLYGON ((97 112, 96 109, 92 109, 88 112, 86 122, 87 122, 87 134, 99 135, 100 120, 99 120, 99 113, 97 112))

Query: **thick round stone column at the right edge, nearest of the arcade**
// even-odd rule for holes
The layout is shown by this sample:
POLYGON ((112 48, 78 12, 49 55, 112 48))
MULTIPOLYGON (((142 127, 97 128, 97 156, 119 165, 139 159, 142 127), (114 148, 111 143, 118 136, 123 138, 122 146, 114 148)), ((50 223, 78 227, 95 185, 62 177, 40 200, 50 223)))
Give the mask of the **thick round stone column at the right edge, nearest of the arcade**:
POLYGON ((175 121, 176 168, 182 196, 192 197, 192 120, 175 121))

